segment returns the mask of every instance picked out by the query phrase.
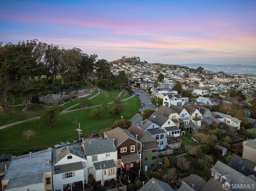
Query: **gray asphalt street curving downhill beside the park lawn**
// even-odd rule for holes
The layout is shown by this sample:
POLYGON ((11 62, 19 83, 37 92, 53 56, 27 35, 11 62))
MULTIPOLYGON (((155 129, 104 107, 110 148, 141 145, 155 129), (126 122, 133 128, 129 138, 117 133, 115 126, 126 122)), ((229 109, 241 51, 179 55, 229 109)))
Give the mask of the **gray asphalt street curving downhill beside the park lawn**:
MULTIPOLYGON (((139 98, 140 98, 140 102, 144 103, 144 109, 152 109, 152 110, 156 110, 155 107, 153 107, 153 104, 151 103, 151 99, 150 99, 150 95, 146 92, 146 91, 141 91, 141 90, 136 90, 135 88, 132 89, 132 91, 134 91, 134 94, 139 94, 139 98)), ((142 111, 142 109, 140 109, 142 111)), ((142 120, 142 117, 140 116, 140 114, 135 114, 130 121, 133 124, 139 124, 142 120)))

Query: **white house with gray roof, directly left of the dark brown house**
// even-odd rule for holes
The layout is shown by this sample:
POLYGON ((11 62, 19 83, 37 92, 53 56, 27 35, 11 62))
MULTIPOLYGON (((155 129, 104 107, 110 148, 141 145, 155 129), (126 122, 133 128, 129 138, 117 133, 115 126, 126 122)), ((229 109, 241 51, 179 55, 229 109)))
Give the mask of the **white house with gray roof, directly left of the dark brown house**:
POLYGON ((116 180, 117 149, 112 139, 83 140, 82 148, 87 159, 88 174, 96 182, 116 180))

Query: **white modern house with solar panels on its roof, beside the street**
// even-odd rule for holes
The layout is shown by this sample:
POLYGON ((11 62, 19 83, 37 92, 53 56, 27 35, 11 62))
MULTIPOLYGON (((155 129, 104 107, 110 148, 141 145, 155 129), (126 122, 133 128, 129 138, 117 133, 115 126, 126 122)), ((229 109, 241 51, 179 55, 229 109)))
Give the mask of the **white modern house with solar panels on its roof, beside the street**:
POLYGON ((181 107, 185 102, 188 102, 188 97, 180 97, 180 95, 174 93, 168 94, 163 98, 163 105, 166 107, 170 105, 181 107))

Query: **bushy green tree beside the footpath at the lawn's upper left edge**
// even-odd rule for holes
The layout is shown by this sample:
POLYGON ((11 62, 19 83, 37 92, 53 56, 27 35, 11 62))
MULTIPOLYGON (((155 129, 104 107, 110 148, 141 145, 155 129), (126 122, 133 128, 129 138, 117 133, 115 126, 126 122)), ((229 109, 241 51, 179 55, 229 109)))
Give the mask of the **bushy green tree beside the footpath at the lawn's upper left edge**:
POLYGON ((57 104, 53 104, 48 110, 41 116, 41 120, 48 128, 54 128, 58 124, 58 116, 62 108, 57 104))

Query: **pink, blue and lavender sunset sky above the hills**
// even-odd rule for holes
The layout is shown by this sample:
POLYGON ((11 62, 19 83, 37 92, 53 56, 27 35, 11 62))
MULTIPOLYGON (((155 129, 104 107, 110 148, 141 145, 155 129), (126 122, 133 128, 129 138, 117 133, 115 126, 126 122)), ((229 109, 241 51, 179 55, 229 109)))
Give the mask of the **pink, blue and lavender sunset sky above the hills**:
POLYGON ((99 59, 256 65, 256 0, 1 0, 0 41, 99 59))

